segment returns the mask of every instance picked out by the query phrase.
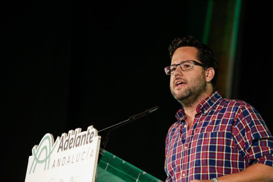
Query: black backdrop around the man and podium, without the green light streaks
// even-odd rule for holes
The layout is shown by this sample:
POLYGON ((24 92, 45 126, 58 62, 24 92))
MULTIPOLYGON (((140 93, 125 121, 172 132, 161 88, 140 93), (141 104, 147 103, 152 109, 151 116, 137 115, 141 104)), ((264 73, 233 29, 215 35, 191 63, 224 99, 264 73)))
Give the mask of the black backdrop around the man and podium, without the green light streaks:
MULTIPOLYGON (((181 107, 163 70, 167 48, 175 37, 202 40, 207 1, 27 1, 2 8, 4 178, 25 180, 31 149, 46 133, 56 139, 78 127, 102 130, 159 106, 113 131, 106 150, 164 181, 165 137, 181 107)), ((230 89, 272 132, 271 22, 269 5, 242 1, 230 89)))

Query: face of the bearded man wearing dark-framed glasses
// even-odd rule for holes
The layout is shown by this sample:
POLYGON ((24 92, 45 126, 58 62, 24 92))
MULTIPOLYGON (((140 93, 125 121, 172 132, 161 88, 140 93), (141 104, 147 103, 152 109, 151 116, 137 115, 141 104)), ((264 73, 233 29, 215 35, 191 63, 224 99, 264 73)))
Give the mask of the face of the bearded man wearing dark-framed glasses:
MULTIPOLYGON (((173 54, 171 65, 179 64, 183 61, 197 60, 197 49, 194 47, 180 47, 173 54)), ((171 93, 177 101, 190 99, 188 103, 193 103, 200 94, 206 91, 206 77, 204 69, 201 66, 194 65, 192 69, 182 71, 177 66, 170 78, 171 93), (179 84, 182 82, 183 84, 179 84)))

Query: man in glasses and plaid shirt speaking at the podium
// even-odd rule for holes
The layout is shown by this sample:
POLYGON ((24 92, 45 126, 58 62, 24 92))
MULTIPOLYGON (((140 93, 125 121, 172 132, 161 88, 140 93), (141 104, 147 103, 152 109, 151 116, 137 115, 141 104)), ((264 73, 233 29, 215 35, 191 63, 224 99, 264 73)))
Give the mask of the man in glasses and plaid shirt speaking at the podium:
POLYGON ((273 181, 273 137, 251 105, 214 91, 213 52, 189 36, 169 53, 165 72, 182 108, 166 137, 166 181, 273 181))

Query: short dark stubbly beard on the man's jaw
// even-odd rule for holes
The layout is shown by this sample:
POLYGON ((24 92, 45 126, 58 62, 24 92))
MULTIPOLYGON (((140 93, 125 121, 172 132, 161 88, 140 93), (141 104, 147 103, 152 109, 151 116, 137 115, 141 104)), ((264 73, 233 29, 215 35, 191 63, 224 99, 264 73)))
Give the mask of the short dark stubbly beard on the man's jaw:
MULTIPOLYGON (((178 77, 177 79, 180 78, 178 77)), ((173 87, 170 86, 171 94, 183 107, 191 107, 194 104, 199 104, 199 102, 203 100, 207 91, 207 82, 204 72, 202 72, 200 76, 192 78, 191 80, 185 80, 185 82, 188 85, 188 88, 180 91, 180 93, 174 91, 174 84, 173 87)))

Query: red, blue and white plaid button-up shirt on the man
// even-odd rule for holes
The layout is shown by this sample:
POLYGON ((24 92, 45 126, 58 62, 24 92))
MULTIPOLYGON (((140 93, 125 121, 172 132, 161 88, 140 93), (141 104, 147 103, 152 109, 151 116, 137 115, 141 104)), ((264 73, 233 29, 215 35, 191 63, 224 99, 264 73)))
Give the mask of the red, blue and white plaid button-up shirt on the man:
POLYGON ((165 145, 167 181, 209 180, 254 163, 273 166, 273 137, 248 103, 214 92, 196 107, 191 128, 181 108, 165 145))

